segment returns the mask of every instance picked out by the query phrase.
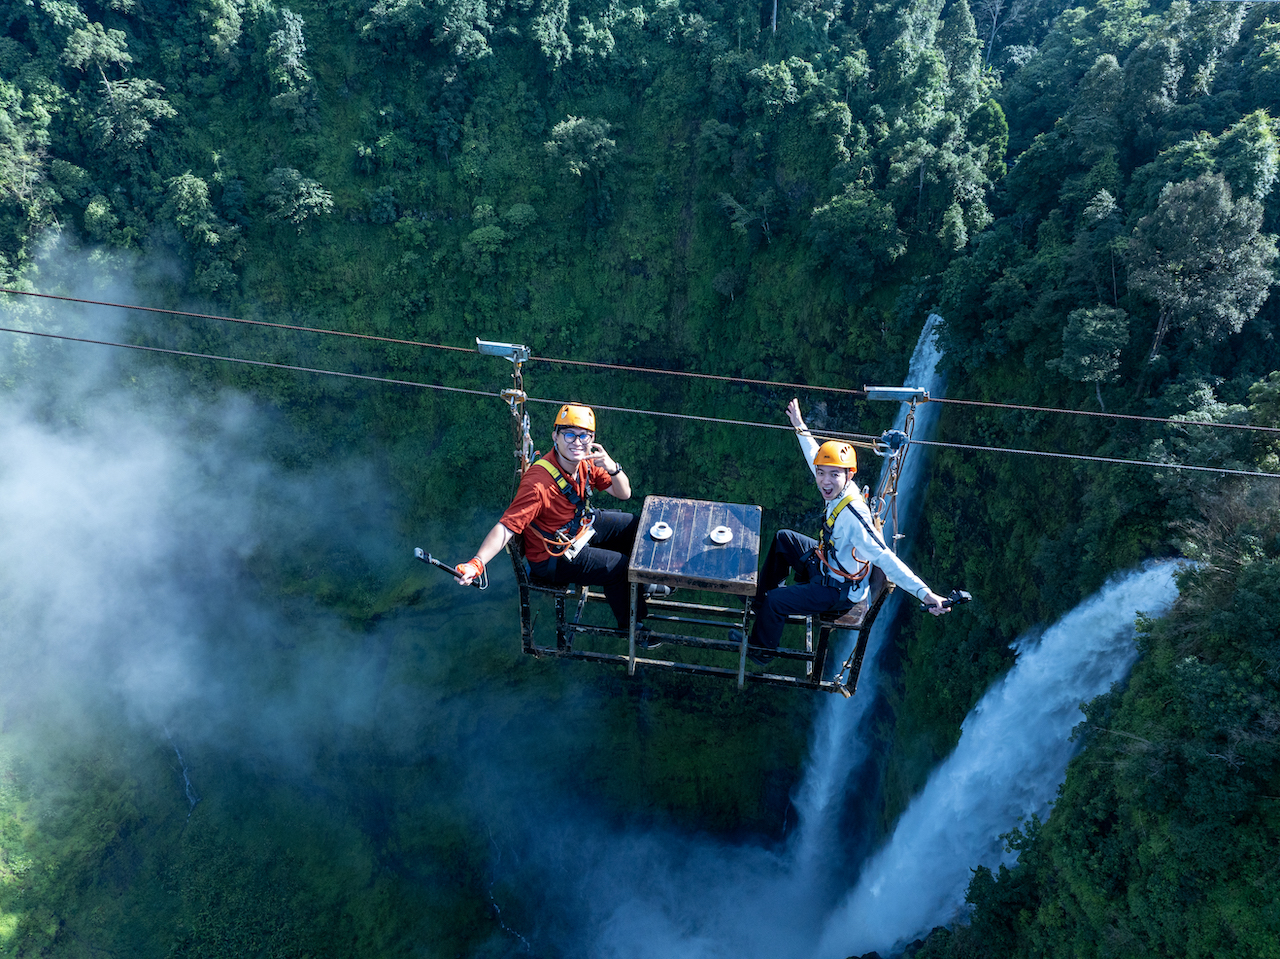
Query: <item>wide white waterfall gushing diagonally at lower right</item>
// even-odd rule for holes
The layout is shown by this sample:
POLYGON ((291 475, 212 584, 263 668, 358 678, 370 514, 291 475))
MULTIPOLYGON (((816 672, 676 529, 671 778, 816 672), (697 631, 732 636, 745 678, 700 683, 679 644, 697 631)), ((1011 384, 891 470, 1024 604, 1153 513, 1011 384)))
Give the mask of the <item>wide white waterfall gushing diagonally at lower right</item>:
POLYGON ((1000 835, 1046 816, 1074 752, 1079 704, 1124 679, 1138 653, 1134 615, 1174 602, 1175 563, 1129 572, 1041 638, 973 708, 955 752, 929 776, 888 844, 832 914, 819 956, 888 953, 955 919, 974 866, 1009 862, 1000 835))

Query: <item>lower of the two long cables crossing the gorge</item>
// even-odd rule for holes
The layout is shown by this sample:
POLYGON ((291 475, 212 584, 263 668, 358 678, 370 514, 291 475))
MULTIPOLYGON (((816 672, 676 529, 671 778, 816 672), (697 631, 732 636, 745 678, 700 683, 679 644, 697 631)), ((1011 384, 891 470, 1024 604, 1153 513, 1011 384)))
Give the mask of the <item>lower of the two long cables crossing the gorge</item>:
MULTIPOLYGON (((358 379, 358 380, 367 380, 367 382, 371 382, 371 383, 387 383, 387 384, 397 385, 397 387, 413 387, 416 389, 435 389, 435 391, 442 391, 442 392, 445 392, 445 393, 463 393, 466 396, 480 396, 480 397, 486 397, 486 398, 490 398, 490 399, 502 399, 502 398, 504 398, 500 393, 489 393, 489 392, 485 392, 485 391, 481 391, 481 389, 466 389, 463 387, 445 387, 445 385, 434 384, 434 383, 417 383, 415 380, 390 379, 390 378, 387 378, 387 376, 371 376, 371 375, 361 374, 361 373, 343 373, 340 370, 321 370, 321 369, 316 369, 316 367, 312 367, 312 366, 291 366, 288 364, 269 362, 266 360, 246 360, 243 357, 218 356, 215 353, 196 353, 196 352, 191 352, 191 351, 186 351, 186 350, 165 350, 163 347, 142 346, 140 343, 115 343, 115 342, 105 341, 105 339, 87 339, 84 337, 68 337, 68 335, 61 334, 61 333, 40 333, 40 332, 36 332, 36 330, 13 329, 13 328, 9 328, 9 326, 0 326, 0 333, 17 333, 17 334, 26 335, 26 337, 42 337, 45 339, 61 339, 61 341, 67 341, 67 342, 70 342, 70 343, 90 343, 92 346, 110 346, 110 347, 118 347, 120 350, 140 350, 142 352, 164 353, 166 356, 186 356, 186 357, 200 359, 200 360, 218 360, 220 362, 244 364, 244 365, 248 365, 248 366, 265 366, 265 367, 274 369, 274 370, 289 370, 292 373, 311 373, 311 374, 316 374, 316 375, 321 375, 321 376, 342 376, 344 379, 358 379)), ((559 405, 562 405, 564 402, 568 402, 568 401, 564 401, 564 399, 547 399, 547 398, 543 398, 543 397, 526 397, 526 401, 531 402, 531 403, 544 403, 544 405, 548 405, 548 406, 559 406, 559 405)), ((716 416, 696 416, 696 415, 692 415, 692 414, 664 412, 662 410, 635 410, 635 408, 626 407, 626 406, 603 406, 603 405, 593 405, 593 406, 596 410, 607 410, 609 412, 635 414, 637 416, 660 416, 660 417, 675 419, 675 420, 692 420, 692 421, 696 421, 696 423, 713 423, 713 424, 724 425, 724 426, 754 426, 754 428, 760 428, 760 429, 778 429, 778 430, 788 430, 788 431, 792 430, 792 428, 788 426, 788 425, 785 426, 782 424, 774 424, 774 423, 753 423, 750 420, 727 420, 727 419, 716 417, 716 416)), ((861 434, 861 433, 838 433, 838 431, 832 431, 832 430, 820 430, 820 433, 824 437, 833 437, 833 438, 837 438, 837 439, 849 439, 855 446, 864 446, 864 447, 869 447, 869 448, 873 448, 873 449, 874 449, 874 440, 877 439, 876 437, 870 437, 870 435, 861 434)), ((1117 465, 1117 466, 1147 466, 1147 467, 1155 467, 1155 469, 1161 469, 1161 470, 1190 470, 1190 471, 1194 471, 1194 472, 1215 472, 1215 474, 1221 474, 1221 475, 1225 475, 1225 476, 1256 476, 1256 478, 1261 478, 1261 479, 1280 479, 1280 472, 1262 472, 1261 470, 1252 471, 1252 470, 1229 470, 1226 467, 1220 467, 1220 466, 1187 466, 1187 465, 1183 465, 1183 463, 1152 462, 1149 460, 1120 460, 1120 458, 1106 457, 1106 456, 1088 456, 1088 455, 1084 455, 1084 453, 1055 453, 1055 452, 1046 452, 1046 451, 1039 451, 1039 449, 1015 449, 1015 448, 1010 448, 1010 447, 983 447, 983 446, 970 446, 970 444, 966 444, 966 443, 943 443, 941 440, 913 439, 911 442, 913 443, 919 443, 920 446, 941 447, 941 448, 946 448, 946 449, 968 449, 968 451, 973 451, 973 452, 988 452, 988 453, 1014 453, 1014 455, 1020 455, 1020 456, 1046 456, 1046 457, 1051 457, 1051 458, 1056 458, 1056 460, 1080 460, 1080 461, 1085 461, 1085 462, 1103 462, 1103 463, 1111 463, 1111 465, 1117 465)))

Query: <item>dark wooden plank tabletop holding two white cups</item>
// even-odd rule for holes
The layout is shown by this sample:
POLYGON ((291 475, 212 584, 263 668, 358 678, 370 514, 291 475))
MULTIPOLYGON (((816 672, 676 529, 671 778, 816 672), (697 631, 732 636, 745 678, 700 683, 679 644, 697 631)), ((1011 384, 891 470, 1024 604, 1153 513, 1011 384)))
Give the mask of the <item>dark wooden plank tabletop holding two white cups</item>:
POLYGON ((760 558, 759 506, 713 503, 678 497, 645 497, 640 531, 631 551, 628 579, 716 593, 754 595, 760 558), (673 533, 657 540, 650 534, 657 522, 673 533), (724 544, 712 540, 717 526, 727 526, 733 538, 724 544))

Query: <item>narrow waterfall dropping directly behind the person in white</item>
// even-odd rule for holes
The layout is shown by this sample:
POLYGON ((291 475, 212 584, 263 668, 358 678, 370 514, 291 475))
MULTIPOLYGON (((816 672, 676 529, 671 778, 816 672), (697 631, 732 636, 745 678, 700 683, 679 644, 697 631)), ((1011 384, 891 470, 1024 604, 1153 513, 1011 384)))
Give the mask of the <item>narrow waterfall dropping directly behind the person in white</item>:
MULTIPOLYGON (((942 318, 937 314, 929 314, 928 320, 925 320, 920 338, 915 343, 915 351, 911 353, 905 384, 927 389, 933 397, 942 396, 946 385, 943 376, 937 370, 942 353, 934 343, 934 333, 941 321, 942 318)), ((902 429, 906 425, 909 408, 908 403, 902 403, 893 429, 902 429)), ((916 439, 929 438, 937 415, 938 407, 934 405, 923 403, 916 407, 914 433, 916 439)), ((899 478, 897 528, 886 526, 886 539, 910 529, 919 510, 916 487, 924 476, 924 448, 911 451, 899 478)), ((929 585, 946 594, 942 585, 936 583, 929 585)), ((867 643, 867 658, 858 681, 858 693, 850 700, 842 697, 828 699, 814 725, 809 763, 795 796, 796 809, 800 813, 800 832, 795 844, 795 868, 797 876, 804 877, 803 885, 812 885, 813 880, 826 872, 822 853, 835 845, 833 830, 841 808, 841 798, 845 794, 845 784, 854 770, 867 759, 868 744, 859 734, 863 731, 864 718, 876 702, 878 679, 876 661, 892 627, 901 598, 902 593, 895 590, 876 618, 876 625, 872 627, 867 643)), ((849 650, 838 652, 838 659, 842 661, 849 650)))

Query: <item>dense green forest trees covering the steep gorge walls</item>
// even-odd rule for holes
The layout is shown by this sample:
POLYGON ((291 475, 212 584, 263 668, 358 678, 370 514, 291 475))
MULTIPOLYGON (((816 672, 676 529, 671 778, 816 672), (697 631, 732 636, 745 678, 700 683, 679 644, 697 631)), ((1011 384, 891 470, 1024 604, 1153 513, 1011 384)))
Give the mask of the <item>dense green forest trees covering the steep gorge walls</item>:
MULTIPOLYGON (((846 388, 901 383, 936 310, 952 396, 1280 424, 1270 4, 33 0, 0 19, 6 287, 45 289, 58 264, 86 257, 154 306, 846 388), (165 268, 138 268, 155 262, 165 268)), ((58 312, 18 321, 83 333, 58 312)), ((506 375, 408 347, 123 323, 131 342, 201 353, 466 388, 506 375)), ((14 369, 6 388, 29 375, 14 369)), ((174 369, 198 394, 232 388, 278 411, 302 437, 274 452, 287 469, 337 449, 376 458, 398 535, 442 503, 470 519, 508 492, 471 472, 477 444, 508 443, 497 401, 174 369)), ((771 423, 791 394, 549 365, 536 376, 544 396, 771 423)), ((886 425, 869 405, 803 396, 818 429, 886 425)), ((808 478, 768 467, 792 456, 785 443, 613 416, 611 449, 636 463, 639 488, 762 503, 773 526, 812 520, 808 478)), ((1170 465, 1277 462, 1263 434, 1134 420, 948 408, 941 431, 1170 465)), ((1203 475, 943 449, 925 511, 908 560, 978 600, 900 638, 884 822, 954 745, 1014 636, 1116 570, 1172 554, 1202 563, 1184 574, 1174 616, 1144 626, 1133 682, 1089 705, 1053 816, 1011 834, 1021 866, 980 871, 972 924, 927 954, 1265 951, 1280 932, 1274 498, 1203 475), (1229 836, 1243 837, 1230 860, 1229 836)), ((262 579, 358 624, 402 602, 367 570, 262 579)), ((797 749, 742 759, 748 772, 710 800, 672 785, 675 759, 618 776, 652 776, 673 822, 731 832, 741 795, 755 794, 741 804, 751 827, 777 810, 759 796, 785 805, 778 770, 797 749)), ((123 789, 111 770, 83 775, 87 796, 123 789)), ((24 795, 0 793, 0 819, 17 822, 24 795)), ((142 828, 118 799, 113 837, 142 828)), ((479 915, 484 842, 461 814, 451 825, 456 809, 436 812, 431 849, 465 848, 465 868, 433 889, 461 890, 449 908, 479 915)), ((83 891, 41 873, 38 905, 17 905, 26 873, 3 828, 0 915, 19 918, 0 922, 0 954, 77 940, 83 891)), ((29 848, 49 862, 78 850, 83 876, 116 841, 74 836, 29 848)), ((251 863, 219 855, 224 878, 251 881, 251 863)), ((186 874, 173 909, 216 913, 186 874)), ((303 886, 279 919, 293 942, 310 935, 301 904, 320 895, 303 886)), ((451 955, 475 946, 465 927, 449 926, 451 955)), ((220 954, 212 927, 198 928, 173 954, 220 954)))

